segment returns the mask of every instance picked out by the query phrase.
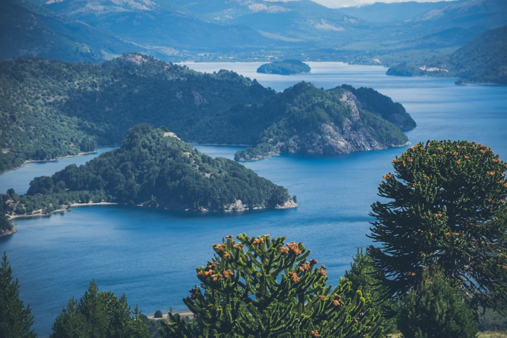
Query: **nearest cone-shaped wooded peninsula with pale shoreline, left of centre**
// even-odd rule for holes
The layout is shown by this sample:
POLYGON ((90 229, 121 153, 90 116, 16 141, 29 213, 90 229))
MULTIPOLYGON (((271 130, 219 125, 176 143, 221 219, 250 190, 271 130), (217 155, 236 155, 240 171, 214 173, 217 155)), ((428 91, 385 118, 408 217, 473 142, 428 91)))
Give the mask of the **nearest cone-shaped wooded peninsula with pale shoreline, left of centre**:
POLYGON ((26 195, 3 195, 8 214, 40 214, 72 203, 112 202, 171 210, 294 207, 287 190, 228 159, 212 159, 167 128, 140 124, 121 147, 85 165, 36 177, 26 195))

